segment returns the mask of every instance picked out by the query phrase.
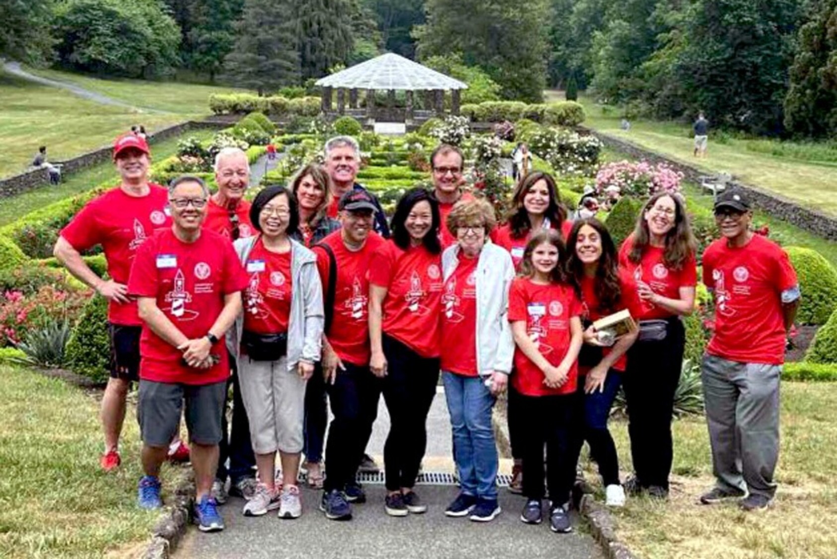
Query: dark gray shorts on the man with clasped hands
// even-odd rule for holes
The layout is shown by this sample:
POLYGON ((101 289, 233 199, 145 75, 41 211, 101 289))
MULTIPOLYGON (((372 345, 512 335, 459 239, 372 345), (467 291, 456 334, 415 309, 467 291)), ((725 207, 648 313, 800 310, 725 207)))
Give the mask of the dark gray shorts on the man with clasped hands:
POLYGON ((221 414, 226 393, 226 380, 194 385, 141 379, 136 418, 140 422, 142 442, 151 447, 168 446, 180 427, 185 400, 189 442, 205 445, 220 443, 221 414))

